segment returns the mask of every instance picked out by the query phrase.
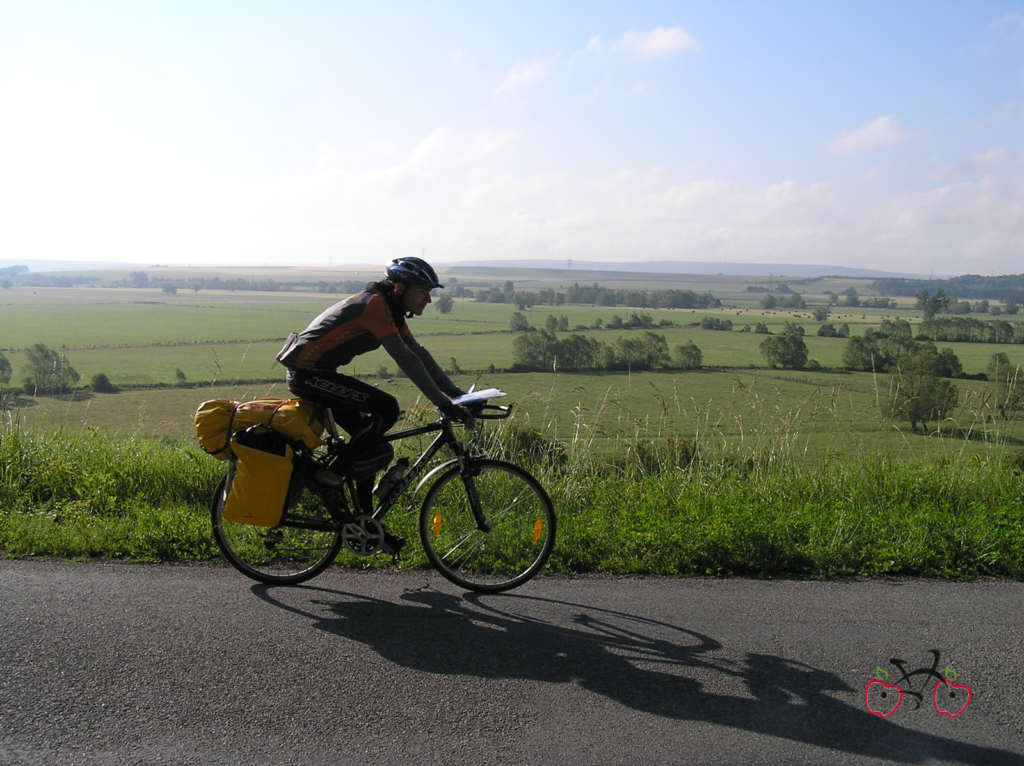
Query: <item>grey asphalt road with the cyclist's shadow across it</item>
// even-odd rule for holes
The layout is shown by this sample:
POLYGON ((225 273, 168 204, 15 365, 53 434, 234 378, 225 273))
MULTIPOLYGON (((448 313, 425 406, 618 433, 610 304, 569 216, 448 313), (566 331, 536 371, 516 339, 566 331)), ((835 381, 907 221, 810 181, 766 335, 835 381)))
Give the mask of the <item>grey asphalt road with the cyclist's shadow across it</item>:
POLYGON ((1021 583, 543 578, 474 596, 429 571, 265 588, 220 566, 0 561, 0 763, 1019 766, 1022 606, 1021 583), (895 692, 865 687, 879 667, 899 679, 893 658, 912 675, 883 718, 866 703, 895 692), (955 717, 913 674, 933 665, 971 689, 955 717))

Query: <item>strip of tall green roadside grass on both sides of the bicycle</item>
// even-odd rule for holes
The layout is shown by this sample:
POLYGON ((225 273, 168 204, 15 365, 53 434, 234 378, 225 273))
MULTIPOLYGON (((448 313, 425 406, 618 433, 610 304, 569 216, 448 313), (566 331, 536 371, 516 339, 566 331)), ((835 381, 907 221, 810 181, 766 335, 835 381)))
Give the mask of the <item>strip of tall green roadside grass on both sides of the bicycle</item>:
MULTIPOLYGON (((609 393, 578 409, 568 438, 553 438, 542 414, 493 423, 473 442, 548 488, 555 571, 1024 576, 1021 461, 991 424, 979 448, 984 401, 965 411, 969 422, 916 437, 929 442, 920 457, 844 457, 806 431, 841 438, 860 427, 840 395, 813 389, 794 405, 737 384, 724 415, 677 390, 637 417, 609 393)), ((0 466, 6 555, 219 557, 207 506, 223 464, 190 440, 8 424, 0 466)), ((396 511, 389 524, 411 534, 414 515, 396 511)))

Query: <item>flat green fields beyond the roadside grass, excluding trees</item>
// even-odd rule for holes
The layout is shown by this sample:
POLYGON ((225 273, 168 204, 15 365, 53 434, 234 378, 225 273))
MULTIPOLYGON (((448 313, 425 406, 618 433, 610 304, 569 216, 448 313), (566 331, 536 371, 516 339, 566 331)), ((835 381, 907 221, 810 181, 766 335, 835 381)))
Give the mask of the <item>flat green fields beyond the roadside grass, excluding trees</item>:
MULTIPOLYGON (((463 273, 464 285, 500 286, 512 273, 498 269, 463 273), (488 282, 489 280, 489 282, 488 282)), ((597 274, 539 271, 516 272, 520 289, 562 288, 573 281, 597 281, 597 274), (571 280, 571 281, 569 281, 571 280)), ((523 310, 527 321, 543 328, 549 315, 565 316, 569 328, 603 343, 644 330, 593 329, 598 321, 614 316, 649 315, 652 332, 664 335, 670 348, 694 342, 703 353, 705 369, 690 373, 642 374, 510 374, 516 334, 509 322, 517 309, 511 303, 457 300, 441 314, 431 307, 411 322, 414 333, 464 387, 471 382, 498 385, 517 402, 517 421, 550 432, 565 442, 586 437, 589 449, 614 453, 629 439, 679 436, 699 438, 721 449, 764 442, 765 449, 785 443, 809 457, 827 454, 879 454, 912 456, 933 453, 941 438, 924 438, 905 432, 906 425, 885 421, 880 400, 890 379, 865 373, 845 373, 839 368, 847 340, 819 338, 811 310, 763 310, 742 307, 750 301, 745 288, 760 278, 669 275, 658 282, 650 274, 605 272, 614 287, 656 289, 673 287, 720 294, 729 307, 714 311, 690 309, 645 310, 589 305, 532 306, 523 310), (716 292, 717 291, 717 292, 716 292), (733 323, 732 331, 702 330, 705 316, 733 323), (809 356, 823 371, 772 371, 765 369, 760 344, 766 336, 740 332, 764 323, 772 332, 787 322, 805 328, 809 356)), ((865 281, 809 280, 807 286, 790 281, 795 290, 841 292, 855 287, 868 294, 865 281)), ((603 283, 602 283, 603 284, 603 283)), ((805 293, 808 297, 812 293, 805 293)), ((273 355, 283 338, 301 329, 338 296, 317 293, 257 293, 230 291, 180 291, 169 296, 154 289, 128 288, 12 288, 0 291, 0 346, 13 369, 12 383, 25 376, 24 348, 45 343, 62 349, 80 373, 82 383, 106 375, 120 393, 83 390, 70 397, 20 396, 8 418, 44 429, 110 429, 120 434, 178 437, 190 432, 196 405, 205 398, 227 396, 246 399, 263 395, 287 396, 284 369, 273 355), (187 387, 180 387, 178 373, 187 387), (231 385, 231 381, 258 381, 231 385), (202 384, 196 388, 198 384, 202 384), (226 386, 226 387, 225 387, 226 386)), ((828 318, 847 324, 852 335, 878 327, 884 317, 902 315, 912 323, 920 313, 908 309, 844 309, 834 307, 828 318)), ((1024 363, 1020 346, 979 343, 941 344, 951 347, 965 372, 985 370, 995 351, 1014 364, 1024 363)), ((348 368, 393 391, 403 406, 418 392, 402 379, 377 378, 379 370, 396 372, 383 350, 358 357, 348 368)), ((963 444, 942 449, 977 451, 1018 443, 1018 422, 992 420, 991 389, 984 381, 961 381, 961 405, 941 424, 945 434, 970 434, 963 444), (990 422, 991 421, 991 422, 990 422)))

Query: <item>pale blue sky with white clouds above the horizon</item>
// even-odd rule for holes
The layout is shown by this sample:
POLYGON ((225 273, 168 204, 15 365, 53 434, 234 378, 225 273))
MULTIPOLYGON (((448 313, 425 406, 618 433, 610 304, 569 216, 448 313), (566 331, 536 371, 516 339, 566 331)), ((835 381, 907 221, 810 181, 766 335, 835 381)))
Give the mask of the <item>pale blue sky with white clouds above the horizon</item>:
POLYGON ((1024 272, 1024 0, 0 0, 0 259, 1024 272))

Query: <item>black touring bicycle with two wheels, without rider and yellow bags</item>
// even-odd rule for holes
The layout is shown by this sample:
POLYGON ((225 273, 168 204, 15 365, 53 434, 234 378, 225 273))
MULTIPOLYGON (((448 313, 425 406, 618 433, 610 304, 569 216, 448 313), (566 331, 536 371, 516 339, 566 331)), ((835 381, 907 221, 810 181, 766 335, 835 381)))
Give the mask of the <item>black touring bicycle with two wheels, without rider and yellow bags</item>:
MULTIPOLYGON (((480 403, 479 420, 500 420, 511 406, 480 403)), ((225 476, 211 505, 213 536, 240 571, 271 584, 297 584, 324 571, 347 549, 358 556, 388 550, 383 519, 416 482, 415 497, 430 483, 420 509, 419 535, 428 560, 444 578, 463 588, 499 593, 516 588, 541 570, 555 543, 555 512, 541 483, 512 463, 471 455, 455 434, 454 422, 441 415, 433 423, 384 434, 389 442, 435 433, 397 482, 381 492, 376 508, 360 507, 352 475, 335 472, 344 448, 334 417, 324 408, 328 435, 310 451, 293 444, 292 483, 278 525, 254 526, 222 517, 227 496, 225 476), (452 459, 430 469, 443 448, 452 459), (332 470, 332 467, 335 470, 332 470), (417 482, 417 479, 419 481, 417 482)), ((392 466, 393 468, 393 466, 392 466)), ((391 472, 385 473, 385 476, 391 472)), ((384 480, 375 488, 381 491, 384 480)))

